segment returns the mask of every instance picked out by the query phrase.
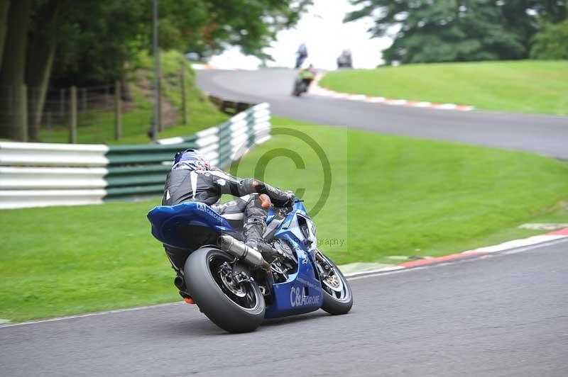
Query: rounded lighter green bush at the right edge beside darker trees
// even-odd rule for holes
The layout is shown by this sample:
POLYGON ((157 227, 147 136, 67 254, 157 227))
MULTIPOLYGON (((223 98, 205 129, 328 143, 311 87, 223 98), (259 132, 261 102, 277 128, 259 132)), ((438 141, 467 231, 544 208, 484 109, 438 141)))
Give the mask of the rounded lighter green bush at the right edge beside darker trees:
POLYGON ((547 23, 533 38, 532 59, 568 60, 568 20, 547 23))

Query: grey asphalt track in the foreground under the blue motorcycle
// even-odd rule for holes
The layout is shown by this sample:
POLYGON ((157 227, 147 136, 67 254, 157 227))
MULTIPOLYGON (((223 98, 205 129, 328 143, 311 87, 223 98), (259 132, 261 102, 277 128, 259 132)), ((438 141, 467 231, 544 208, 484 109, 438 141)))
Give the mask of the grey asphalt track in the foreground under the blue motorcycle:
POLYGON ((0 375, 568 376, 568 242, 351 280, 322 310, 226 334, 193 305, 0 327, 0 375))

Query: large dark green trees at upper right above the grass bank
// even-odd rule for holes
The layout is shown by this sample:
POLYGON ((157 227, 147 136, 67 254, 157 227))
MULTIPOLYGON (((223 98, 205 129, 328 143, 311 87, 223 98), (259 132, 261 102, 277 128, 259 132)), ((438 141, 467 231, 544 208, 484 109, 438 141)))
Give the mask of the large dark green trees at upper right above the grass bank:
POLYGON ((565 0, 351 0, 345 21, 373 17, 375 37, 393 36, 387 64, 528 57, 537 16, 566 16, 565 0))

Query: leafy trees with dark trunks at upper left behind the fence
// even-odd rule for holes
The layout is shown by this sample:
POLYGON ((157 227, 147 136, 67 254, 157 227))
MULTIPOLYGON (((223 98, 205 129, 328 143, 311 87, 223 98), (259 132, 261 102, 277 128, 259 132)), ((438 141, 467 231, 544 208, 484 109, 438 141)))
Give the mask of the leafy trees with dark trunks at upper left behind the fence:
MULTIPOLYGON (((229 46, 263 53, 311 0, 160 0, 160 48, 201 58, 229 46)), ((151 51, 153 0, 0 0, 0 137, 38 130, 48 84, 124 79, 151 51), (33 88, 35 104, 26 108, 33 88), (26 113, 28 119, 23 113, 26 113)))

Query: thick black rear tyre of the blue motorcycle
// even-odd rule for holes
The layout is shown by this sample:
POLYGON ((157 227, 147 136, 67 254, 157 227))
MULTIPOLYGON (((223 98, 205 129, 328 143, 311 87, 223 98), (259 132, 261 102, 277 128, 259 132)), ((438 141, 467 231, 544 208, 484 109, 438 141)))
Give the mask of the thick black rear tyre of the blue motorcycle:
POLYGON ((255 307, 248 309, 235 303, 213 278, 215 272, 210 268, 212 259, 231 262, 234 258, 214 247, 202 247, 192 252, 187 257, 184 268, 187 291, 204 315, 223 330, 228 332, 256 330, 264 320, 266 308, 260 288, 255 281, 249 284, 249 288, 253 289, 256 295, 255 307))

